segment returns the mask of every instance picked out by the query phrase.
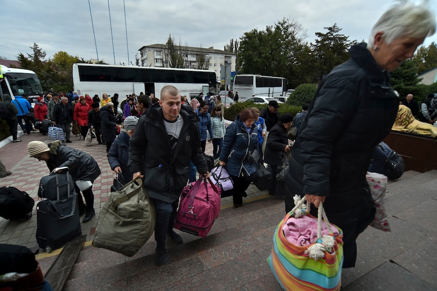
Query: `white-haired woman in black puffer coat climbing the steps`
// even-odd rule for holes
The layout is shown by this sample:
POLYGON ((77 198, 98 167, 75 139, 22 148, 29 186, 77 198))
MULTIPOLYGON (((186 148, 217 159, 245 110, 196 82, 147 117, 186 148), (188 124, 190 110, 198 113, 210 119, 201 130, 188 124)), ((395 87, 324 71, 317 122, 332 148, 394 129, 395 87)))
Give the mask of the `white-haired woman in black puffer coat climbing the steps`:
MULTIPOLYGON (((355 266, 358 234, 372 222, 375 204, 366 183, 373 149, 390 132, 399 98, 389 71, 412 58, 435 32, 435 16, 426 7, 402 2, 385 12, 372 29, 369 44, 353 46, 351 58, 319 85, 299 138, 292 149, 285 210, 295 194, 318 206, 344 233, 343 268, 355 266)), ((312 208, 313 214, 317 209, 312 208)))

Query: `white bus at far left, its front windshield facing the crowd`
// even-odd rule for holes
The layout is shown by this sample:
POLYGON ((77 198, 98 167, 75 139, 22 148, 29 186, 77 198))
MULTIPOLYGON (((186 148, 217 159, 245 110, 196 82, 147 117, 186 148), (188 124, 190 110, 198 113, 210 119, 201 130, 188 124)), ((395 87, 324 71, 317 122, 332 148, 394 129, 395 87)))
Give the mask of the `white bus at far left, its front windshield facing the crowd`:
POLYGON ((3 78, 0 77, 0 93, 9 94, 12 99, 14 96, 27 94, 28 100, 43 96, 43 88, 35 72, 25 69, 1 67, 3 78))

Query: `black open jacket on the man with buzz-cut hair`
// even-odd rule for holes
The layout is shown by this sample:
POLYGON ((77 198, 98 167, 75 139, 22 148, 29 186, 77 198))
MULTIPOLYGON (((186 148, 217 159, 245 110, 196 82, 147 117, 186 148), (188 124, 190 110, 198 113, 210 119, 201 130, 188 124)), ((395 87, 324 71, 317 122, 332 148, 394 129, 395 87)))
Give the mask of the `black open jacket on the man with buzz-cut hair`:
POLYGON ((144 175, 143 185, 151 198, 166 202, 179 199, 187 185, 190 160, 204 174, 208 166, 200 148, 199 118, 181 106, 184 125, 176 147, 171 150, 161 107, 149 108, 136 125, 129 142, 129 168, 144 175))

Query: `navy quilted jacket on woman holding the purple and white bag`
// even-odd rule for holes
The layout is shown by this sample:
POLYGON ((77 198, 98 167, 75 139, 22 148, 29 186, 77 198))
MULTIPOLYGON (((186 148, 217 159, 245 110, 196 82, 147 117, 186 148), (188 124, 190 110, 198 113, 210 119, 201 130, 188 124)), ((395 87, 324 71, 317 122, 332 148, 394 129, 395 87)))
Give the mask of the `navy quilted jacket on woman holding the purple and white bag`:
POLYGON ((247 133, 239 116, 238 114, 235 121, 226 129, 220 153, 220 160, 226 162, 226 170, 236 177, 239 177, 243 170, 248 175, 257 171, 256 165, 248 160, 248 153, 259 149, 257 126, 252 124, 250 134, 247 133))

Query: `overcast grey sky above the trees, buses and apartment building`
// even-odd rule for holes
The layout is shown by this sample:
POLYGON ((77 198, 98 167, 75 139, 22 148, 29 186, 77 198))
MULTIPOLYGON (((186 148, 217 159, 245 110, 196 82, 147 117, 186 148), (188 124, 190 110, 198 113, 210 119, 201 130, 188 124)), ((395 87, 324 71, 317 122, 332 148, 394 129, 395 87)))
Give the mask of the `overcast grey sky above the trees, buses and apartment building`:
MULTIPOLYGON (((437 1, 431 0, 437 11, 437 1)), ((165 44, 171 33, 176 42, 191 47, 223 50, 231 38, 238 39, 254 28, 294 19, 307 30, 308 43, 315 32, 337 23, 350 40, 367 40, 370 30, 391 0, 10 0, 1 1, 0 56, 16 60, 19 52, 31 53, 37 43, 52 57, 58 51, 84 59, 97 59, 90 15, 94 22, 98 57, 107 63, 135 63, 142 46, 165 44), (89 6, 90 3, 90 6, 89 6), (128 44, 128 45, 127 45, 128 44)), ((434 34, 425 40, 437 42, 434 34)))

